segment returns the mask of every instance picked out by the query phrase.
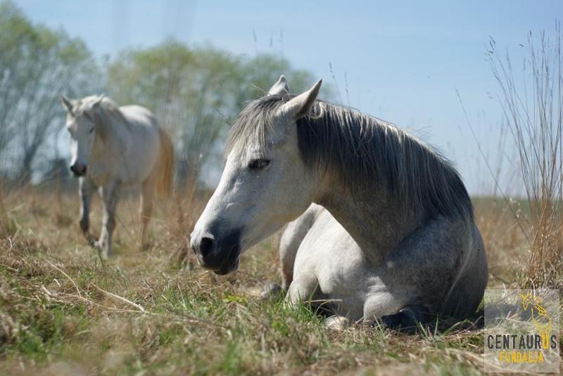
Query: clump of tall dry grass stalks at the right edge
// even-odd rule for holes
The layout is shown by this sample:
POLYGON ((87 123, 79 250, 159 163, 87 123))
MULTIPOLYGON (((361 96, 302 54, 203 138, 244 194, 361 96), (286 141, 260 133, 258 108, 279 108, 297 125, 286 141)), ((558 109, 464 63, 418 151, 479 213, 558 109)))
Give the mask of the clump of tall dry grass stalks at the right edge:
POLYGON ((563 275, 563 60, 562 31, 555 38, 545 32, 539 41, 528 34, 528 54, 522 68, 523 85, 517 84, 510 56, 499 54, 491 39, 488 53, 493 74, 502 91, 501 103, 519 154, 529 219, 524 223, 529 239, 526 285, 562 284, 563 275))

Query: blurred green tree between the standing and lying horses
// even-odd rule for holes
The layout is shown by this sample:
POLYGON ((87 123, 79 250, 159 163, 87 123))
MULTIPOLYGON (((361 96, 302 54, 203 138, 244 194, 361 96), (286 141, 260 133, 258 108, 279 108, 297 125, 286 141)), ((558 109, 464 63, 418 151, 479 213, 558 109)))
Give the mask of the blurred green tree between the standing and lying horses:
POLYGON ((293 91, 314 82, 312 74, 294 70, 277 56, 241 58, 212 46, 192 48, 169 40, 121 53, 108 67, 108 93, 120 104, 155 112, 176 142, 182 180, 205 161, 220 165, 229 124, 246 101, 264 95, 281 73, 289 77, 293 91))

